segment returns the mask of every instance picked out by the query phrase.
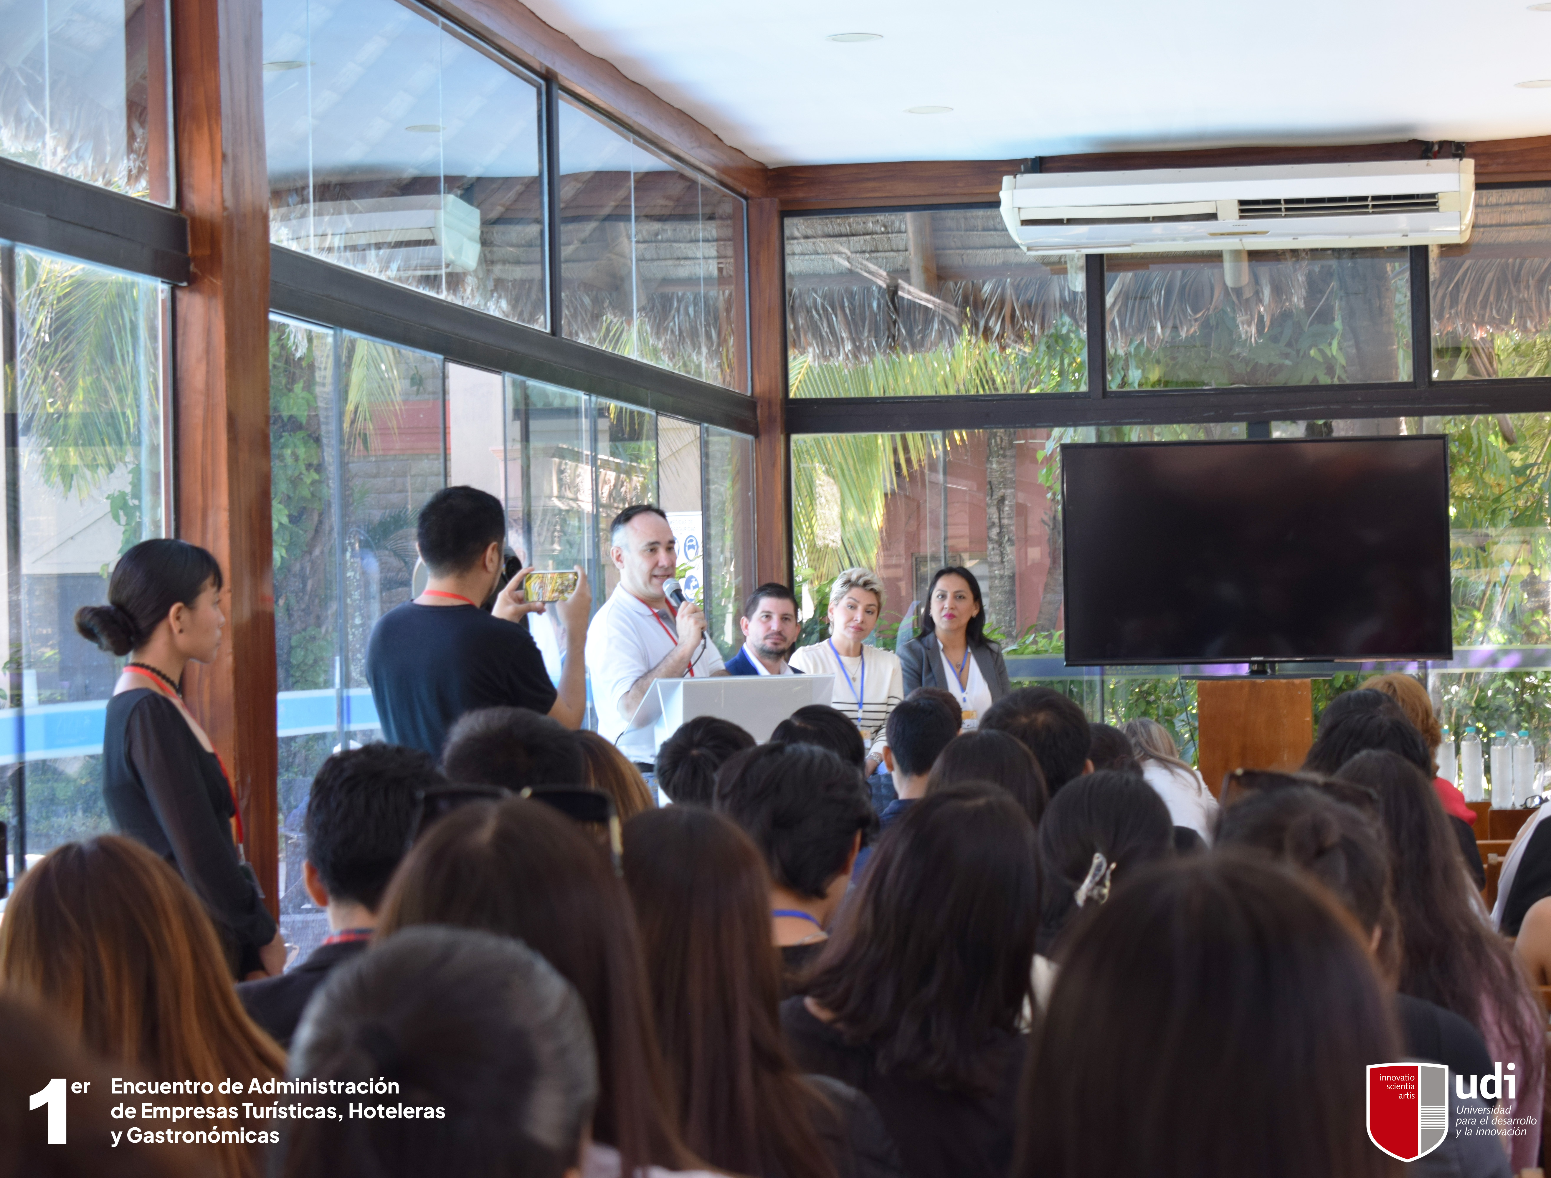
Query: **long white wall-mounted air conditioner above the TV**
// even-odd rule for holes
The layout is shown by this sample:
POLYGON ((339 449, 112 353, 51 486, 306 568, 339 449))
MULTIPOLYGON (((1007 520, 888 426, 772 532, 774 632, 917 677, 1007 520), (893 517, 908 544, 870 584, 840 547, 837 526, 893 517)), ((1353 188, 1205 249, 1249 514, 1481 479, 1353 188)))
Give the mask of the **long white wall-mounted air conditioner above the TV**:
POLYGON ((1475 215, 1472 160, 1056 172, 1002 180, 1031 254, 1455 245, 1475 215))

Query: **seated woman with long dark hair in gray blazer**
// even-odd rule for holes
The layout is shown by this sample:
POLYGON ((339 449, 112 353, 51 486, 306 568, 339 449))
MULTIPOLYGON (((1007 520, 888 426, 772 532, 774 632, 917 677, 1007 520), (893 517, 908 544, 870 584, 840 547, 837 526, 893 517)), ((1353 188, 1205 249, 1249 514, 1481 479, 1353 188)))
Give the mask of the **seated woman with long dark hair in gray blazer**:
POLYGON ((980 727, 996 701, 1013 690, 1002 651, 985 637, 980 583, 952 564, 932 574, 921 632, 900 646, 904 693, 940 687, 959 701, 965 730, 980 727))

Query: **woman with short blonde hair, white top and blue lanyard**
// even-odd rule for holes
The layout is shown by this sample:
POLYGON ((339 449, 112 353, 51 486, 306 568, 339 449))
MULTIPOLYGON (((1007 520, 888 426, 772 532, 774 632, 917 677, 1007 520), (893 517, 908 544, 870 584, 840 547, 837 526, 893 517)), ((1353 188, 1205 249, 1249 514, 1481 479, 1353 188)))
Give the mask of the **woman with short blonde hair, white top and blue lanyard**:
POLYGON ((856 721, 867 742, 867 777, 883 764, 884 725, 904 699, 904 673, 893 651, 864 645, 883 617, 883 580, 847 569, 830 586, 830 637, 791 656, 803 674, 833 674, 833 705, 856 721))

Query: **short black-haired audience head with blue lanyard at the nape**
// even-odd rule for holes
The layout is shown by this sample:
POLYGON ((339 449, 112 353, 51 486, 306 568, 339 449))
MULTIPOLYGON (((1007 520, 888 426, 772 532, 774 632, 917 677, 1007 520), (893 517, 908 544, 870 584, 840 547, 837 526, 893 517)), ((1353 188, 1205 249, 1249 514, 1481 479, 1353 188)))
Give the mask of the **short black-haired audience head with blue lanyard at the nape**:
POLYGON ((754 840, 776 884, 807 899, 844 888, 878 822, 861 770, 811 744, 734 756, 717 775, 715 809, 754 840))

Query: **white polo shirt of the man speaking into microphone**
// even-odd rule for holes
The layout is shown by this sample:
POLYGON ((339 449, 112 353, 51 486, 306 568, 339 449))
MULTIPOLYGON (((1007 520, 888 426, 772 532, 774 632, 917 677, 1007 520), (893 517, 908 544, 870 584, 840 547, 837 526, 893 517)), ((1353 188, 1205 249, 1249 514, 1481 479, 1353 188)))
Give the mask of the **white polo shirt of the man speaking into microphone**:
MULTIPOLYGON (((647 671, 678 646, 678 628, 667 609, 653 609, 625 586, 617 586, 592 617, 586 634, 586 671, 592 680, 597 732, 631 761, 656 760, 651 727, 625 730, 634 708, 619 701, 647 671)), ((695 677, 721 670, 721 651, 707 637, 690 665, 695 677)), ((687 676, 686 676, 687 677, 687 676)))

